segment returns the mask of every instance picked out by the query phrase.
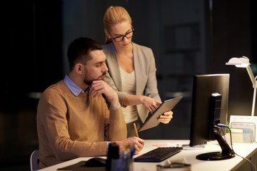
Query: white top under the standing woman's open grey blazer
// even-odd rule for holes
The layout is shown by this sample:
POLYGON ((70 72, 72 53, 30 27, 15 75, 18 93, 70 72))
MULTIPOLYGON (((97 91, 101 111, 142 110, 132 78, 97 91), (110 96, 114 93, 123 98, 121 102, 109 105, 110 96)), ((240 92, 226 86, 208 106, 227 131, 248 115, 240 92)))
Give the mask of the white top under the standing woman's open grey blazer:
MULTIPOLYGON (((136 94, 136 76, 135 71, 132 73, 127 73, 122 69, 121 67, 121 84, 122 84, 122 90, 125 93, 129 93, 132 95, 136 94)), ((124 113, 124 118, 126 123, 131 123, 138 119, 138 114, 136 111, 136 105, 128 105, 126 108, 121 108, 122 112, 124 113)))

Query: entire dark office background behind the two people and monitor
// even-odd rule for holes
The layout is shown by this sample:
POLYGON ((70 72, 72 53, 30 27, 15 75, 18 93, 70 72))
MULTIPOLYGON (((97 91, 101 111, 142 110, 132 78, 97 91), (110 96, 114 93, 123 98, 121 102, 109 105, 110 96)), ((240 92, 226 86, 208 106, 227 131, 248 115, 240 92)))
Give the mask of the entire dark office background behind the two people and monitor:
POLYGON ((39 147, 40 94, 68 72, 72 40, 86 36, 104 43, 104 12, 117 5, 131 14, 133 41, 153 49, 161 98, 184 97, 171 123, 141 132, 142 138, 189 138, 195 74, 230 73, 228 119, 251 115, 246 69, 225 63, 248 56, 256 76, 253 0, 1 1, 0 170, 30 170, 29 157, 39 147))

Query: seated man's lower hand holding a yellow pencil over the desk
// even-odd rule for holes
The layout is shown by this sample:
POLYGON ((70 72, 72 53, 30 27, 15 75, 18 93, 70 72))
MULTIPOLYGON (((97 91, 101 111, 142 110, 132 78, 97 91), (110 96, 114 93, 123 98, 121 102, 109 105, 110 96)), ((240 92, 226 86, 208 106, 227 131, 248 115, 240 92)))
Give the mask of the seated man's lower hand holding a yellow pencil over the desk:
POLYGON ((132 138, 126 138, 125 140, 121 141, 114 141, 117 145, 119 145, 119 152, 121 153, 126 145, 133 145, 132 148, 136 148, 135 155, 138 155, 138 152, 140 152, 143 149, 144 140, 137 137, 132 138))

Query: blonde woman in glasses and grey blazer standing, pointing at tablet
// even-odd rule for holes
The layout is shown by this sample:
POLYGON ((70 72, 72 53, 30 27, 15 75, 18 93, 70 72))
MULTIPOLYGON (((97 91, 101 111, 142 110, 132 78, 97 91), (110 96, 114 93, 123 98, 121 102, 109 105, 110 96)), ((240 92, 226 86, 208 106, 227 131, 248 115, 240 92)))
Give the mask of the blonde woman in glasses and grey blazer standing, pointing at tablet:
MULTIPOLYGON (((131 41, 134 29, 129 13, 121 6, 111 6, 104 14, 106 41, 104 53, 109 72, 104 81, 119 95, 125 116, 128 138, 135 136, 133 123, 140 127, 148 113, 153 113, 161 98, 158 95, 155 59, 151 48, 131 41)), ((168 111, 158 119, 169 123, 172 112, 168 111)))

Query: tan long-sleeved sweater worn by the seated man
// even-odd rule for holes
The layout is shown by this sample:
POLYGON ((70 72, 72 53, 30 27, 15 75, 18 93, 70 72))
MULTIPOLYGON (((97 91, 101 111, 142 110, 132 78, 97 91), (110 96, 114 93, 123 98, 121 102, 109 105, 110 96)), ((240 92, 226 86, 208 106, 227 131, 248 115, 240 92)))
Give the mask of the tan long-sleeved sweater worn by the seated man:
POLYGON ((36 121, 41 168, 76 157, 106 155, 105 140, 122 140, 127 134, 121 108, 109 111, 102 95, 75 96, 64 81, 44 91, 36 121))

